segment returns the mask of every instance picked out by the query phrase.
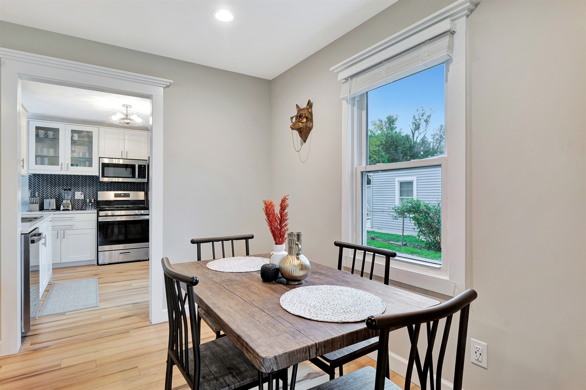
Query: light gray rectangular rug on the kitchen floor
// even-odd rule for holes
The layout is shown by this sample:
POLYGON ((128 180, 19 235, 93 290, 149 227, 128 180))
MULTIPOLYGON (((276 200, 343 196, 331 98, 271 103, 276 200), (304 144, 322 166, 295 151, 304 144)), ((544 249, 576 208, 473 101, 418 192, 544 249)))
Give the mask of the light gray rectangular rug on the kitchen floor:
POLYGON ((97 308, 98 278, 53 283, 39 317, 97 308))

